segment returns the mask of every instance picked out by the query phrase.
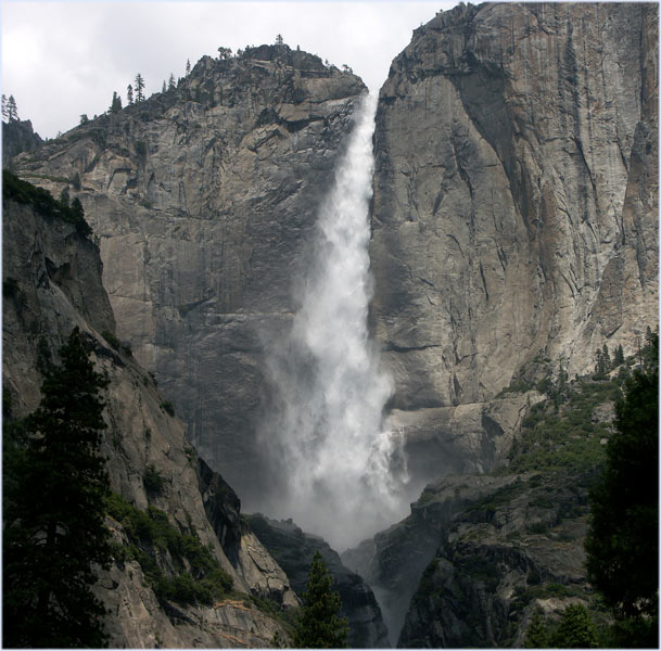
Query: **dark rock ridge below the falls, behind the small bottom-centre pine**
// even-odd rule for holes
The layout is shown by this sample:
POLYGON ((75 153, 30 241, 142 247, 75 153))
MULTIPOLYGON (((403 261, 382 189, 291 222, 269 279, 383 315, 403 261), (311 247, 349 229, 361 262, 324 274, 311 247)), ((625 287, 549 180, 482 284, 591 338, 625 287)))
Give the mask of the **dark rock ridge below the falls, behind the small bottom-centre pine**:
POLYGON ((250 515, 249 522, 300 595, 305 591, 313 557, 319 551, 340 593, 342 615, 348 620, 351 649, 391 646, 374 593, 356 572, 342 563, 338 553, 322 538, 304 533, 291 520, 276 521, 257 513, 250 515))

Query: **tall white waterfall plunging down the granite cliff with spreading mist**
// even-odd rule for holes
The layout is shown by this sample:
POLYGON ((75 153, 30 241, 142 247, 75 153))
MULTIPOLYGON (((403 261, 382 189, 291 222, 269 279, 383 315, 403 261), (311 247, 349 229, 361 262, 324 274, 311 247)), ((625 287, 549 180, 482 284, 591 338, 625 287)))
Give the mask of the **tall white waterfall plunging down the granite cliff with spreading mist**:
POLYGON ((368 337, 369 201, 377 98, 366 95, 318 215, 291 331, 268 346, 272 409, 259 433, 278 481, 259 505, 342 550, 408 513, 401 433, 383 422, 393 381, 368 337))

